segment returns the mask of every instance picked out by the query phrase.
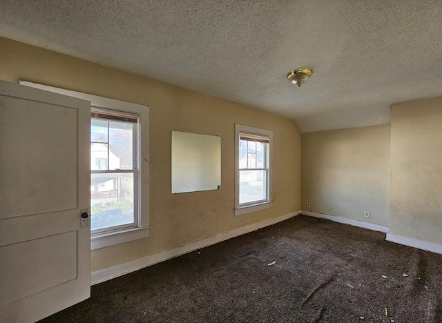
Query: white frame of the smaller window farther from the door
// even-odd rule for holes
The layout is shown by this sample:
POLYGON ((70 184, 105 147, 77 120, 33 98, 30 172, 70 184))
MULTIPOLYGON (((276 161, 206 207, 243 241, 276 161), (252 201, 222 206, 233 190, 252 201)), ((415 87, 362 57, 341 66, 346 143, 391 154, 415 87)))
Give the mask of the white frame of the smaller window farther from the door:
POLYGON ((243 126, 241 124, 235 124, 235 215, 242 215, 251 212, 256 212, 260 210, 265 210, 266 208, 271 208, 271 164, 272 164, 272 153, 273 151, 273 131, 265 130, 261 128, 255 128, 251 126, 243 126), (267 168, 262 168, 267 170, 267 185, 266 185, 266 199, 257 202, 249 202, 240 204, 240 135, 257 135, 260 137, 269 138, 269 144, 266 150, 266 160, 267 168))

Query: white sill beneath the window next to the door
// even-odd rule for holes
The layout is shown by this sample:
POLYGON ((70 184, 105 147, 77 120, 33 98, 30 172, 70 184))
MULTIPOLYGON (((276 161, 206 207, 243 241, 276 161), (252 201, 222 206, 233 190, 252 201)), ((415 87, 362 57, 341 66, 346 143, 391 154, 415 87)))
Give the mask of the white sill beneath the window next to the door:
POLYGON ((104 248, 106 246, 114 246, 137 239, 148 237, 150 226, 144 228, 129 228, 126 230, 101 233, 90 237, 90 250, 104 248))

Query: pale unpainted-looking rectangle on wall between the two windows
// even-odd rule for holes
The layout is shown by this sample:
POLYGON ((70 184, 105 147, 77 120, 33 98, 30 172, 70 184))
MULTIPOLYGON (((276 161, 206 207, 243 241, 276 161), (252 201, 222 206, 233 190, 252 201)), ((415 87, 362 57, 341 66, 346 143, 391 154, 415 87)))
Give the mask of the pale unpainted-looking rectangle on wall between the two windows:
POLYGON ((221 188, 221 137, 172 131, 172 193, 221 188))

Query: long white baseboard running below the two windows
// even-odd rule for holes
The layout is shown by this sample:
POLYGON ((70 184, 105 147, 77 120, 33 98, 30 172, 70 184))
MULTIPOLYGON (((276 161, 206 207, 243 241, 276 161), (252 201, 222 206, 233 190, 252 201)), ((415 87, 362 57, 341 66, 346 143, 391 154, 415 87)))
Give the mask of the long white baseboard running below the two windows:
POLYGON ((271 226, 291 217, 295 217, 301 213, 300 210, 289 212, 278 217, 272 217, 271 219, 265 219, 262 222, 255 224, 250 224, 249 226, 244 226, 242 228, 237 228, 235 230, 229 231, 227 233, 220 233, 219 235, 213 235, 212 237, 206 237, 204 239, 191 242, 189 244, 184 244, 183 246, 178 246, 173 249, 162 251, 160 253, 154 253, 153 255, 148 255, 140 259, 132 260, 131 262, 125 262, 124 264, 118 264, 117 266, 104 268, 100 271, 94 271, 90 273, 90 284, 95 285, 100 282, 105 282, 106 280, 111 280, 115 277, 119 277, 126 273, 132 273, 141 268, 157 264, 158 262, 164 262, 164 260, 169 260, 173 257, 184 255, 184 253, 189 253, 191 251, 210 246, 211 244, 216 244, 233 237, 238 237, 239 235, 244 235, 252 231, 256 231, 265 226, 271 226))

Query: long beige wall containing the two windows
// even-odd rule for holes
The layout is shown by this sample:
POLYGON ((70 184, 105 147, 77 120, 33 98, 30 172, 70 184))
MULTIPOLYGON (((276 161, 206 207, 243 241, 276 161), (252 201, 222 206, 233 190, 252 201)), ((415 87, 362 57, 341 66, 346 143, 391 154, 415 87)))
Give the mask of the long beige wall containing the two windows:
POLYGON ((0 79, 19 79, 150 106, 151 231, 92 252, 92 271, 300 208, 300 133, 289 119, 0 38, 0 79), (273 207, 233 215, 234 124, 273 130, 273 207), (222 189, 171 194, 171 130, 222 138, 222 189))

